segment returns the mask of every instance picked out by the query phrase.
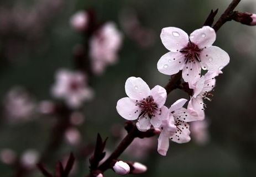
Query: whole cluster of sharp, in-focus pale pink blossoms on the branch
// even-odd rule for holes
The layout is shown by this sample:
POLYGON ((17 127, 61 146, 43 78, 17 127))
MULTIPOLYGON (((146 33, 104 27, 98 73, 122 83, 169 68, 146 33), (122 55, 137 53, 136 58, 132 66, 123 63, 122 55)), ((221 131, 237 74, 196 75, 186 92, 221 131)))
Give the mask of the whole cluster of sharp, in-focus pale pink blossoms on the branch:
POLYGON ((161 130, 158 138, 158 152, 166 155, 169 140, 176 143, 190 141, 189 122, 205 119, 204 99, 211 99, 218 74, 229 63, 228 54, 217 46, 215 30, 203 26, 187 35, 185 31, 168 27, 161 31, 161 41, 170 52, 158 61, 161 73, 173 75, 182 70, 182 78, 193 92, 184 108, 186 99, 179 99, 167 108, 164 104, 167 93, 165 88, 156 85, 150 90, 147 83, 139 77, 130 77, 125 84, 128 97, 117 102, 117 112, 124 119, 138 120, 139 131, 150 128, 161 130), (208 72, 201 76, 201 68, 208 72))

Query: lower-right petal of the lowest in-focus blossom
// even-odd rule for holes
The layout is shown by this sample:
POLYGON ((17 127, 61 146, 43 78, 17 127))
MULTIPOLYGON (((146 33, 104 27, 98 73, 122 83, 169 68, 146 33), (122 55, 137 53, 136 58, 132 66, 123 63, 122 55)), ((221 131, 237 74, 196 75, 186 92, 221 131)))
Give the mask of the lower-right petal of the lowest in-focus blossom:
POLYGON ((177 126, 177 131, 173 136, 171 136, 171 140, 176 143, 186 143, 190 141, 190 130, 189 124, 184 121, 178 121, 180 125, 177 126))

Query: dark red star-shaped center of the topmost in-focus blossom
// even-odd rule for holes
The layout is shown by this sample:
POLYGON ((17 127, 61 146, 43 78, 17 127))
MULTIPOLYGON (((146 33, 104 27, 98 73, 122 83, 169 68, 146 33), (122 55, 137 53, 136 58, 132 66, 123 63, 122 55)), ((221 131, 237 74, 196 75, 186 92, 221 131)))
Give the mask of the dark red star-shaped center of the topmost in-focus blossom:
POLYGON ((187 46, 181 49, 180 52, 185 55, 185 58, 186 58, 185 63, 187 62, 191 63, 195 61, 200 62, 199 55, 200 55, 201 49, 199 49, 198 46, 193 42, 189 41, 187 46))

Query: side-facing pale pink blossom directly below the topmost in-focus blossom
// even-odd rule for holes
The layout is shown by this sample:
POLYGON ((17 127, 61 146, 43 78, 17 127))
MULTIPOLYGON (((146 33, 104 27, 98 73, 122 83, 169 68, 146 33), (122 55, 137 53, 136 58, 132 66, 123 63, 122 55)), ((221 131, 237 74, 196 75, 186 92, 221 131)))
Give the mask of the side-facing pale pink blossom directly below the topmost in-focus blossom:
POLYGON ((203 99, 211 100, 212 94, 210 93, 215 87, 216 79, 215 77, 218 74, 222 73, 221 71, 210 72, 208 71, 205 76, 202 76, 192 88, 194 89, 194 94, 190 96, 189 104, 187 109, 197 115, 198 120, 205 119, 205 107, 206 104, 203 103, 203 99))

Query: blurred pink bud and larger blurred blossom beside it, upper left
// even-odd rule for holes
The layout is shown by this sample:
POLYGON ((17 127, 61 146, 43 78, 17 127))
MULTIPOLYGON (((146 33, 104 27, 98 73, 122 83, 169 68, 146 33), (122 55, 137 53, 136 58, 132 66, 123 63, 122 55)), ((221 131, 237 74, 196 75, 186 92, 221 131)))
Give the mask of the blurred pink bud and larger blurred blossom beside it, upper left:
POLYGON ((117 54, 122 46, 122 33, 113 22, 97 25, 93 14, 81 10, 75 13, 70 24, 72 28, 80 33, 90 35, 89 52, 91 68, 94 74, 102 74, 108 65, 117 62, 117 54))

